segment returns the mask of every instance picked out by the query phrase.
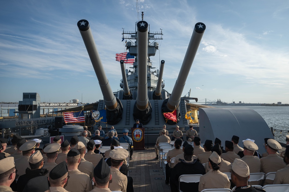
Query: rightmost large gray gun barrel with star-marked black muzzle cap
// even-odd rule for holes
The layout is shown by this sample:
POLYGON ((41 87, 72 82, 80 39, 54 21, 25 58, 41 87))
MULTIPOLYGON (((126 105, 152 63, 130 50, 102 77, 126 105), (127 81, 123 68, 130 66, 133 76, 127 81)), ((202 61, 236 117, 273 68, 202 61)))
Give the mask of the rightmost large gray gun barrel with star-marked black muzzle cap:
MULTIPOLYGON (((192 33, 192 37, 188 45, 188 49, 187 49, 183 64, 181 66, 179 76, 173 88, 172 94, 168 99, 164 100, 164 103, 162 105, 163 113, 172 112, 175 109, 177 109, 177 121, 179 121, 179 119, 181 118, 180 117, 181 115, 179 112, 179 103, 181 100, 181 94, 184 90, 184 86, 185 86, 188 74, 190 72, 192 63, 194 61, 194 57, 196 56, 198 47, 203 37, 203 33, 205 32, 205 29, 206 29, 205 24, 201 22, 195 24, 194 31, 192 33)), ((175 122, 171 120, 168 120, 167 123, 175 124, 175 122)))

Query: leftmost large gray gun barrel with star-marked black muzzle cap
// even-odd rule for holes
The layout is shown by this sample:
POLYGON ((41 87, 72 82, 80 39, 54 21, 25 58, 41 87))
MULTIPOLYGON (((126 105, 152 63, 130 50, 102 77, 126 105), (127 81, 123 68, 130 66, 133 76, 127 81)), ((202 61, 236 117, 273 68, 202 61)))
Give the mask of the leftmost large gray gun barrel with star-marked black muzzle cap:
POLYGON ((77 26, 81 37, 84 41, 84 45, 91 60, 93 69, 99 81, 100 89, 103 94, 103 100, 106 105, 106 116, 109 124, 114 125, 122 119, 122 104, 115 98, 108 78, 106 77, 103 64, 101 62, 95 41, 93 39, 90 26, 87 20, 79 20, 77 26))

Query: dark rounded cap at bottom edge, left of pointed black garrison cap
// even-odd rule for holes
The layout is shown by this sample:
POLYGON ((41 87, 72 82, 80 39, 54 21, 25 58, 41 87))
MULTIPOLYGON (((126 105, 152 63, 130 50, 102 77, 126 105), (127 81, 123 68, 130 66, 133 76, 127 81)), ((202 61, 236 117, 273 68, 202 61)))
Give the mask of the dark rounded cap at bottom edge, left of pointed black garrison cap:
POLYGON ((38 176, 30 179, 22 192, 31 192, 31 191, 37 191, 37 192, 44 192, 49 190, 49 183, 47 180, 47 176, 38 176))

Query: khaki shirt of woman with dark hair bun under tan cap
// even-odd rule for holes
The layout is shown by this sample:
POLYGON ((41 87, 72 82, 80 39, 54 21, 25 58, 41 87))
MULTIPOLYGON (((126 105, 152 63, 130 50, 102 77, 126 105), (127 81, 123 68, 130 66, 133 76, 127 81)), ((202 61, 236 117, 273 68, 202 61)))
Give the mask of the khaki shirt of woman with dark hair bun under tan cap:
POLYGON ((226 174, 212 169, 200 177, 199 191, 212 188, 230 189, 230 181, 226 174))

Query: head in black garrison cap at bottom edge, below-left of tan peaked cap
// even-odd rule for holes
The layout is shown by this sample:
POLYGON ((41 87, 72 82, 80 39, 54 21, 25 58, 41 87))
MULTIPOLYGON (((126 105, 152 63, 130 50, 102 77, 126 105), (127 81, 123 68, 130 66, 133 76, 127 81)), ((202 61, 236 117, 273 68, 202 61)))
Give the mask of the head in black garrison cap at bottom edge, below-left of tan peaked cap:
POLYGON ((99 164, 95 166, 93 172, 93 183, 95 187, 90 192, 111 192, 108 185, 109 181, 112 179, 112 175, 110 174, 110 167, 104 159, 99 161, 99 164))

